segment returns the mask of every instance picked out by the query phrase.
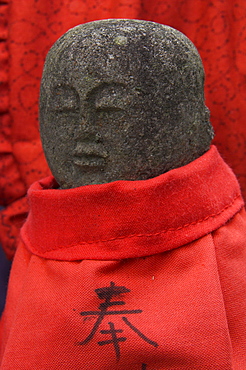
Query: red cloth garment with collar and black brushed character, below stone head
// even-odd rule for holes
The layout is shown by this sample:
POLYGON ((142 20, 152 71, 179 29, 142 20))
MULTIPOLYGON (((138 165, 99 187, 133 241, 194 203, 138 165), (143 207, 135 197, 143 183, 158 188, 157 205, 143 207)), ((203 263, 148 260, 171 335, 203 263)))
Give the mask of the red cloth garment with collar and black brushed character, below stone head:
POLYGON ((215 147, 146 181, 49 177, 29 201, 1 369, 246 369, 246 214, 215 147))

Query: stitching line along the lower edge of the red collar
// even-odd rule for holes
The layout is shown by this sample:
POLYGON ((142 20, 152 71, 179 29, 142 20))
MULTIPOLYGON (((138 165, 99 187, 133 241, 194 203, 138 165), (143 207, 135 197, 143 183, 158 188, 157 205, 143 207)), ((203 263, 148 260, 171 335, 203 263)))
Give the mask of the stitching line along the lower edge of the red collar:
MULTIPOLYGON (((161 234, 165 234, 169 231, 178 231, 178 230, 182 230, 184 228, 187 228, 189 226, 192 226, 192 225, 197 225, 199 223, 202 223, 204 221, 207 221, 209 218, 213 218, 213 217, 217 217, 219 216, 221 213, 223 213, 224 211, 226 211, 228 208, 232 207, 232 205, 235 203, 235 201, 238 199, 238 198, 241 198, 241 195, 237 195, 230 204, 226 205, 222 210, 220 210, 219 212, 217 213, 214 213, 212 215, 209 215, 209 216, 206 216, 205 218, 203 219, 200 219, 198 221, 193 221, 189 224, 185 224, 183 226, 179 226, 177 228, 169 228, 169 229, 166 229, 166 230, 162 230, 162 231, 159 231, 157 233, 151 233, 151 234, 133 234, 133 235, 127 235, 127 236, 118 236, 116 238, 112 238, 112 239, 107 239, 107 240, 96 240, 96 241, 88 241, 88 242, 81 242, 81 243, 76 243, 76 244, 71 244, 71 245, 67 245, 67 246, 59 246, 59 247, 56 247, 56 248, 52 248, 52 249, 49 249, 48 251, 44 252, 45 254, 46 253, 49 253, 51 251, 54 251, 54 250, 58 250, 58 249, 62 249, 62 248, 73 248, 75 246, 78 246, 78 245, 87 245, 87 244, 97 244, 97 243, 107 243, 107 242, 111 242, 111 241, 114 241, 114 240, 122 240, 122 239, 130 239, 130 238, 135 238, 135 237, 151 237, 151 236, 157 236, 157 235, 161 235, 161 234)), ((240 209, 243 207, 243 204, 242 206, 240 207, 240 209)), ((30 239, 29 237, 26 235, 26 238, 29 240, 30 242, 30 239)), ((32 244, 32 243, 31 243, 32 244)), ((35 250, 37 250, 35 247, 34 247, 35 250)))

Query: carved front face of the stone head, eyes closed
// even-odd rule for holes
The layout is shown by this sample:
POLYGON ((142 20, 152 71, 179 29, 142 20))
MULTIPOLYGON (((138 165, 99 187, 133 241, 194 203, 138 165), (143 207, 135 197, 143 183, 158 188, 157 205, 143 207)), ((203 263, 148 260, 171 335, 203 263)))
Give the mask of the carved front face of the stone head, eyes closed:
MULTIPOLYGON (((95 61, 97 56, 87 58, 95 61)), ((108 61, 110 75, 100 63, 88 68, 78 51, 76 69, 65 58, 52 79, 42 137, 61 187, 135 179, 133 163, 143 160, 140 138, 147 117, 141 85, 114 65, 112 54, 108 61)), ((144 172, 140 167, 139 177, 144 172)))

